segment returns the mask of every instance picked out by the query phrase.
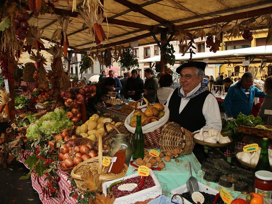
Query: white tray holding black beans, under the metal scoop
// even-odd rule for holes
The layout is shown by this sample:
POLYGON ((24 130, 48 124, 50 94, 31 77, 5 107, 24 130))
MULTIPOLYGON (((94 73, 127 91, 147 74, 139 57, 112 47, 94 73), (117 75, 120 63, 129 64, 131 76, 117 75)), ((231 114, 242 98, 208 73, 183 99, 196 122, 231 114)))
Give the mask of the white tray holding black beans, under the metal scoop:
MULTIPOLYGON (((199 181, 197 183, 199 186, 199 191, 201 191, 201 192, 205 192, 205 193, 209 193, 209 194, 213 194, 213 195, 216 195, 217 193, 219 193, 218 190, 215 190, 215 189, 213 189, 203 183, 200 183, 199 181)), ((173 196, 176 193, 178 193, 178 194, 186 193, 187 191, 188 191, 187 186, 186 186, 186 184, 184 184, 180 187, 177 187, 177 188, 171 190, 171 196, 173 196)), ((204 203, 205 203, 205 201, 204 201, 204 203)), ((186 200, 184 198, 184 204, 193 204, 193 203, 189 202, 188 200, 186 200)))

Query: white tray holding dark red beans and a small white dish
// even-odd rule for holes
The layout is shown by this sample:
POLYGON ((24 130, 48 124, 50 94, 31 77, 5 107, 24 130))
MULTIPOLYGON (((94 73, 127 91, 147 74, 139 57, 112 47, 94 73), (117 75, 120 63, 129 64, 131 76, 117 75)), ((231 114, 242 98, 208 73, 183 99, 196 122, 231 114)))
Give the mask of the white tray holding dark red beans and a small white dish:
MULTIPOLYGON (((153 198, 156 198, 157 196, 160 196, 162 194, 160 183, 157 180, 157 177, 155 176, 153 171, 151 169, 149 169, 149 170, 150 170, 149 175, 154 180, 155 186, 148 188, 148 189, 141 190, 136 193, 132 193, 127 196, 122 196, 122 197, 116 198, 114 201, 114 204, 134 203, 137 201, 145 201, 149 198, 153 199, 153 198)), ((107 182, 103 183, 102 184, 103 193, 105 194, 105 196, 107 196, 108 186, 110 186, 112 183, 119 181, 121 179, 126 180, 126 179, 133 178, 136 176, 138 176, 138 173, 134 173, 132 175, 125 176, 123 178, 119 178, 119 179, 115 179, 115 180, 107 181, 107 182)))

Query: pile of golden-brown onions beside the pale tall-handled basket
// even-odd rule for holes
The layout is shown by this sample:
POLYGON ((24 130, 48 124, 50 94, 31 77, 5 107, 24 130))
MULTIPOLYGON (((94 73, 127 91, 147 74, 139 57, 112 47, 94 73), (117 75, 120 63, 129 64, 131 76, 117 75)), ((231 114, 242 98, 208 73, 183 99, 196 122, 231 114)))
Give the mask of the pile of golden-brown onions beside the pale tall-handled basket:
POLYGON ((92 144, 72 146, 71 143, 63 144, 59 149, 58 158, 63 169, 71 168, 92 157, 97 157, 97 152, 92 144))

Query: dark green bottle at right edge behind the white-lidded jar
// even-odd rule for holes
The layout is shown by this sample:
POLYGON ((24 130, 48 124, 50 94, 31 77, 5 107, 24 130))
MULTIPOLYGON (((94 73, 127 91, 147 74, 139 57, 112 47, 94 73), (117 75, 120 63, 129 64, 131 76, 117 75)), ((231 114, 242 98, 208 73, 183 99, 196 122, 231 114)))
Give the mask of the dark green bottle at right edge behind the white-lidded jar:
POLYGON ((255 172, 259 170, 266 170, 271 172, 271 167, 269 164, 269 158, 268 158, 268 138, 262 139, 262 149, 259 161, 256 165, 255 172))

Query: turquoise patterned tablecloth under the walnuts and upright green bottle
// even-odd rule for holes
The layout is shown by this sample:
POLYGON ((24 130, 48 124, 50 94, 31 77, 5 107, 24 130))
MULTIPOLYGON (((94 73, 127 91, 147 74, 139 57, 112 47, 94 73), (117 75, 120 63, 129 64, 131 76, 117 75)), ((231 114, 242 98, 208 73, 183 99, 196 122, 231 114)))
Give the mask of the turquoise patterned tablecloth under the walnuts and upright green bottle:
MULTIPOLYGON (((160 151, 160 150, 157 149, 157 151, 160 151)), ((163 195, 171 197, 170 191, 172 189, 180 187, 186 183, 186 181, 190 177, 189 169, 188 169, 188 162, 191 162, 192 174, 193 174, 193 176, 196 176, 195 172, 198 172, 199 170, 201 170, 201 164, 196 159, 196 157, 193 153, 190 155, 178 157, 176 159, 171 159, 170 162, 165 162, 164 169, 166 169, 166 170, 162 170, 162 171, 154 170, 153 171, 154 174, 156 175, 157 179, 160 182, 163 195)), ((127 176, 131 175, 135 172, 137 173, 137 171, 134 172, 135 169, 137 169, 137 168, 129 165, 128 171, 127 171, 127 176)))

